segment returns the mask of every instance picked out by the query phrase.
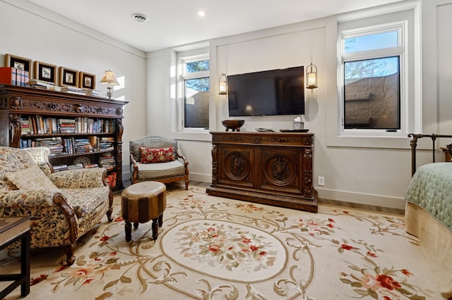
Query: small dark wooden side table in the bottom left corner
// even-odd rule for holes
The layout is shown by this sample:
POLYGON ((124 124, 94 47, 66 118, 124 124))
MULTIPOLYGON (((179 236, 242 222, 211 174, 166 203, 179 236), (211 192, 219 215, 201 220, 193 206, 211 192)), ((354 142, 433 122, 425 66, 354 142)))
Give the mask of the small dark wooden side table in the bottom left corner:
POLYGON ((0 217, 0 250, 20 241, 20 274, 0 275, 0 281, 13 281, 0 292, 0 299, 20 285, 20 296, 30 294, 30 219, 31 217, 0 217))

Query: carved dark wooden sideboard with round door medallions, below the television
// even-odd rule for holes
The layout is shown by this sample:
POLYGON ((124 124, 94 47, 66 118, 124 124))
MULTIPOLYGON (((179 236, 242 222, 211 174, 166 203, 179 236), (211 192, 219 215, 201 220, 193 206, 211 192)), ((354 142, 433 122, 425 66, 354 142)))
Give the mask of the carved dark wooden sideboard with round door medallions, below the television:
POLYGON ((313 133, 210 132, 213 196, 317 211, 313 133))

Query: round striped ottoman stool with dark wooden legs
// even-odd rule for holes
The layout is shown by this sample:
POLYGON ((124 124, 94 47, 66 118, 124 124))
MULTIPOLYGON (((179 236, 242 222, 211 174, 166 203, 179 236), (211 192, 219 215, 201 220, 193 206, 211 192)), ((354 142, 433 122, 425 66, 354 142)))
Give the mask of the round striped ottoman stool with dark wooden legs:
POLYGON ((145 181, 126 187, 121 194, 122 218, 126 221, 126 241, 132 238, 133 227, 138 223, 153 220, 153 239, 158 237, 158 227, 162 227, 163 212, 167 206, 167 189, 162 182, 145 181))

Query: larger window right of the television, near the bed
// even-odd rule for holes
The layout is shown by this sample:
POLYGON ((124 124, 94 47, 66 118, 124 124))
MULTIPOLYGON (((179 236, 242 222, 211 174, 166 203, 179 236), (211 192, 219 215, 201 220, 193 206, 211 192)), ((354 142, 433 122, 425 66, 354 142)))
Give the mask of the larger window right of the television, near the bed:
POLYGON ((343 130, 402 129, 404 27, 393 23, 343 32, 343 130))

